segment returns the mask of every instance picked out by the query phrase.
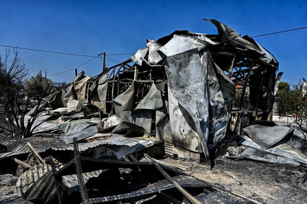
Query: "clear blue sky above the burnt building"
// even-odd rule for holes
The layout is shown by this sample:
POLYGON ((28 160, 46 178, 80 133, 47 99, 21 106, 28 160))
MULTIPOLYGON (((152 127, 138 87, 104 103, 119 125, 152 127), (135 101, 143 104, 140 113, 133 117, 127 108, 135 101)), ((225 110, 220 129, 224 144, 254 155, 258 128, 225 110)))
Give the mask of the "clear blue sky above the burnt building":
MULTIPOLYGON (((219 20, 237 33, 260 35, 307 26, 305 1, 6 1, 0 4, 0 44, 96 56, 135 53, 146 39, 157 40, 175 30, 217 34, 219 20)), ((282 81, 307 78, 307 29, 254 38, 279 61, 282 81)), ((55 74, 91 58, 18 49, 35 75, 55 74)), ((0 46, 0 55, 5 47, 0 46)), ((124 61, 131 55, 108 56, 124 61)), ((108 59, 111 59, 108 58, 108 59)), ((111 59, 111 60, 112 60, 111 59)), ((115 63, 106 61, 107 67, 115 63)), ((86 75, 102 70, 100 59, 78 68, 86 75)), ((74 70, 50 76, 71 82, 74 70)))

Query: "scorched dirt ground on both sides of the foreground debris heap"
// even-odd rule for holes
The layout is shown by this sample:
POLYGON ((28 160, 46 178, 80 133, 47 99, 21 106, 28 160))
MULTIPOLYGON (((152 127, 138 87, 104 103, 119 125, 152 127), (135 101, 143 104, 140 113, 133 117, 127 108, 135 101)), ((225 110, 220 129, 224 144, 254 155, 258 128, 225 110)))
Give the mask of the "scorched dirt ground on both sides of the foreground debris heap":
MULTIPOLYGON (((0 137, 0 144, 12 150, 18 144, 29 141, 35 148, 61 147, 65 144, 52 137, 31 137, 27 139, 8 139, 0 137)), ((297 142, 295 143, 296 145, 297 142)), ((262 203, 307 203, 306 168, 302 166, 269 164, 250 160, 234 161, 218 158, 210 169, 208 163, 162 159, 164 162, 189 166, 185 171, 201 180, 222 185, 226 190, 252 198, 262 203)), ((16 164, 11 160, 0 161, 0 204, 31 203, 17 197, 15 183, 16 164)))

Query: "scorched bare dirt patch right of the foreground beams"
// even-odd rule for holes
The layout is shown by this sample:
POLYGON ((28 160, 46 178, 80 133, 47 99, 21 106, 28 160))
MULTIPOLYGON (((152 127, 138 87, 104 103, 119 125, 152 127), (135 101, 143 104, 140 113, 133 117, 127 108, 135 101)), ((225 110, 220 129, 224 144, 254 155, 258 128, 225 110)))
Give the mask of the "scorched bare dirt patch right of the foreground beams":
POLYGON ((226 158, 217 159, 211 170, 209 164, 179 163, 190 165, 191 170, 185 172, 198 179, 222 185, 226 190, 262 203, 307 203, 303 167, 226 158))

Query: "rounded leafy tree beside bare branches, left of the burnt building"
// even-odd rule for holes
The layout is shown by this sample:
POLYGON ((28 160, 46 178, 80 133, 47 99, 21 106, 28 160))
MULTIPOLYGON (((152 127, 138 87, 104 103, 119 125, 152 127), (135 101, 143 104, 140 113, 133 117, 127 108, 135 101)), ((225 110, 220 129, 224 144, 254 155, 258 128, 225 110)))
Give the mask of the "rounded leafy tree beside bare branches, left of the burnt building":
POLYGON ((39 97, 45 97, 49 95, 54 87, 54 83, 51 79, 42 76, 39 71, 36 76, 32 76, 25 82, 25 90, 28 96, 39 99, 39 97))

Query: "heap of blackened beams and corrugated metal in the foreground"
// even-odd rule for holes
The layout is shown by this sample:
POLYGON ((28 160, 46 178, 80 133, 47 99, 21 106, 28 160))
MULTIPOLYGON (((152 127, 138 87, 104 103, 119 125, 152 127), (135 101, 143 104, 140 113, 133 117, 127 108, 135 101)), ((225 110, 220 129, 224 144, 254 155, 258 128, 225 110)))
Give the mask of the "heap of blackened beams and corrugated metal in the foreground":
POLYGON ((124 161, 80 156, 75 138, 71 161, 56 166, 52 157, 48 164, 42 160, 20 175, 17 194, 33 203, 53 203, 56 199, 59 203, 254 201, 177 170, 187 166, 170 165, 147 154, 144 156, 147 161, 138 161, 133 155, 124 156, 124 161))

